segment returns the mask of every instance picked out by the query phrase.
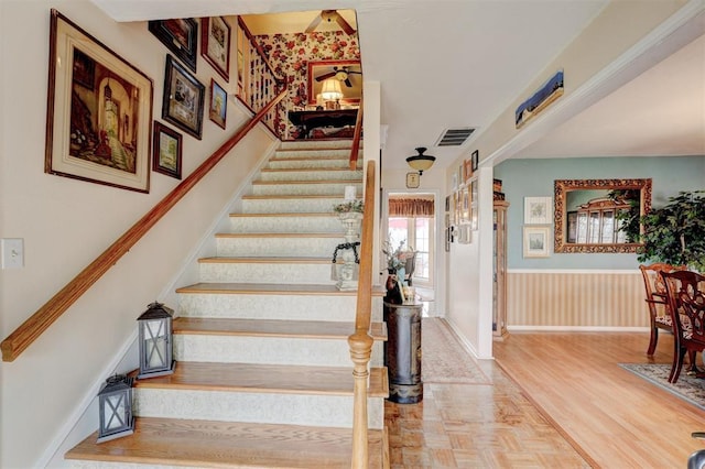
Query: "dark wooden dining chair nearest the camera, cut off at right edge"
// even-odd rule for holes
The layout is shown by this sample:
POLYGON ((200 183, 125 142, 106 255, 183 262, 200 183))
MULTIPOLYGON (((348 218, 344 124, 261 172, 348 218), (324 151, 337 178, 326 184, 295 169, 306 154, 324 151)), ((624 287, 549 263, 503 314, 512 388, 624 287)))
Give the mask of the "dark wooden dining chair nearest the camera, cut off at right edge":
POLYGON ((673 321, 673 364, 669 382, 675 383, 685 353, 705 350, 705 275, 691 271, 662 272, 673 321))

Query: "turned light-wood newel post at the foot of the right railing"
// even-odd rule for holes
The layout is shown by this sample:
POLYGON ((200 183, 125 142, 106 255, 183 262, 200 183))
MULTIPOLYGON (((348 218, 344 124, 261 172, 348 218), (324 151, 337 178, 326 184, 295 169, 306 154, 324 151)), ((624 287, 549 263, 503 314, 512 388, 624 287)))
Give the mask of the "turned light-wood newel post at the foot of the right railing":
POLYGON ((367 437, 367 388, 368 388, 368 363, 372 355, 372 338, 365 329, 356 329, 355 334, 348 337, 350 346, 350 358, 355 368, 352 378, 355 380, 354 407, 352 407, 352 469, 367 469, 369 462, 369 448, 367 437))

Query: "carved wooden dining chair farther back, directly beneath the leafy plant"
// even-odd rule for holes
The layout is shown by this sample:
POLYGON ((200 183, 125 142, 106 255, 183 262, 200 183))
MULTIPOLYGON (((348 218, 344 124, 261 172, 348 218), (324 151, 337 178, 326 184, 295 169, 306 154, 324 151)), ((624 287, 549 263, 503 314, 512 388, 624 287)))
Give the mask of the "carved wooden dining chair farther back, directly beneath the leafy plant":
POLYGON ((659 329, 673 332, 673 323, 671 321, 671 315, 668 312, 665 285, 663 284, 661 272, 682 271, 685 270, 685 266, 658 262, 650 265, 641 264, 639 265, 639 270, 641 270, 643 286, 647 292, 646 301, 649 306, 649 325, 651 327, 651 336, 649 338, 647 355, 652 356, 657 351, 659 329))

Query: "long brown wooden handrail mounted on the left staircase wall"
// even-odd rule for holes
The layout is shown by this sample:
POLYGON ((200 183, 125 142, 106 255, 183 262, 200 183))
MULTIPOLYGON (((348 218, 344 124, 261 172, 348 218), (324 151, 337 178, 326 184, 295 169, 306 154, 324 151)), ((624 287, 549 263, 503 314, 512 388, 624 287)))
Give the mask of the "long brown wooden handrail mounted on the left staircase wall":
POLYGON ((216 150, 188 177, 169 193, 159 204, 144 215, 137 223, 115 241, 102 254, 56 293, 48 302, 36 310, 20 327, 10 334, 0 345, 2 360, 13 361, 37 337, 61 317, 94 283, 96 283, 118 260, 126 254, 156 222, 171 210, 254 126, 286 96, 281 91, 271 102, 262 108, 250 121, 238 130, 216 150))

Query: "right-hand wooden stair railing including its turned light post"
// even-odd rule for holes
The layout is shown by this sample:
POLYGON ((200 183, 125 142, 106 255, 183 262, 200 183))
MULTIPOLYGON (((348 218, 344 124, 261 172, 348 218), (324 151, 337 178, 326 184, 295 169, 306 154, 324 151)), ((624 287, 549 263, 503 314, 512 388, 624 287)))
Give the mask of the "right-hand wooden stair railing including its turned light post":
POLYGON ((365 215, 360 236, 360 274, 357 287, 355 332, 348 337, 350 358, 355 364, 352 404, 352 463, 354 469, 367 468, 369 448, 367 436, 367 386, 368 364, 372 355, 372 338, 369 335, 372 309, 372 248, 375 231, 375 162, 367 164, 365 179, 365 215))

